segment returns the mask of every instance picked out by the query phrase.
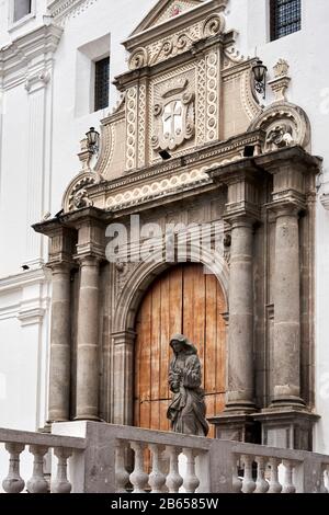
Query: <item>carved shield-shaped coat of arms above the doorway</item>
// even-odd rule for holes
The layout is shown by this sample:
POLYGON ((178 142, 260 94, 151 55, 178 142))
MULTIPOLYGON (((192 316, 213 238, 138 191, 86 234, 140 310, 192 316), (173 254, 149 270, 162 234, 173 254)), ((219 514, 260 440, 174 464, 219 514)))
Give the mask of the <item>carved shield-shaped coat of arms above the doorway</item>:
POLYGON ((189 80, 179 79, 154 106, 154 150, 174 150, 194 135, 194 93, 189 90, 189 80))

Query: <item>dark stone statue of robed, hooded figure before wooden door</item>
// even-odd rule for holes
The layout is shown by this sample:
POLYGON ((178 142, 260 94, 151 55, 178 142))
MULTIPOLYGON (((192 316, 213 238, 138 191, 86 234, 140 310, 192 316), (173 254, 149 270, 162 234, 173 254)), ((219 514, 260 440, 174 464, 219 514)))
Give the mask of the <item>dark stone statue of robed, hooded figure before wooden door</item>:
POLYGON ((206 405, 201 388, 201 363, 195 346, 182 334, 170 341, 173 357, 169 366, 169 386, 173 392, 167 417, 175 433, 206 436, 206 405))

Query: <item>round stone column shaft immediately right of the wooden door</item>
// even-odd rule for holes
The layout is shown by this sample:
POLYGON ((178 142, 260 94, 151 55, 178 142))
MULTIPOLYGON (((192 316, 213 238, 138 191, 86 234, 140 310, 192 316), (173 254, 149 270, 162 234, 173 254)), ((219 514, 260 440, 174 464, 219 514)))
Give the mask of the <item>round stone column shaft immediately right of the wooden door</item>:
POLYGON ((231 220, 226 410, 253 411, 252 219, 231 220))

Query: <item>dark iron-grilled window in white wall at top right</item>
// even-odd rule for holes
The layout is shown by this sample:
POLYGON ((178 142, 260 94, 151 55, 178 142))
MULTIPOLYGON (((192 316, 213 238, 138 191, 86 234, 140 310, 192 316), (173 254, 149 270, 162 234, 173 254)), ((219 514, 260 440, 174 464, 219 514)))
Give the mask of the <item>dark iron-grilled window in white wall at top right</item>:
POLYGON ((302 28, 302 0, 271 1, 271 41, 302 28))

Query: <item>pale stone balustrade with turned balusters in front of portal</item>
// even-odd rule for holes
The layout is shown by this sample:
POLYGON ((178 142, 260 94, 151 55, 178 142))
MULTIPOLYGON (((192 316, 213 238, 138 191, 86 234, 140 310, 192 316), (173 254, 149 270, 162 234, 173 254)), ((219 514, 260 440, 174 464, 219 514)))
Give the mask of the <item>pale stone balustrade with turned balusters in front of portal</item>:
POLYGON ((54 424, 53 434, 0 430, 0 442, 8 493, 329 493, 329 457, 315 453, 97 422, 54 424))

